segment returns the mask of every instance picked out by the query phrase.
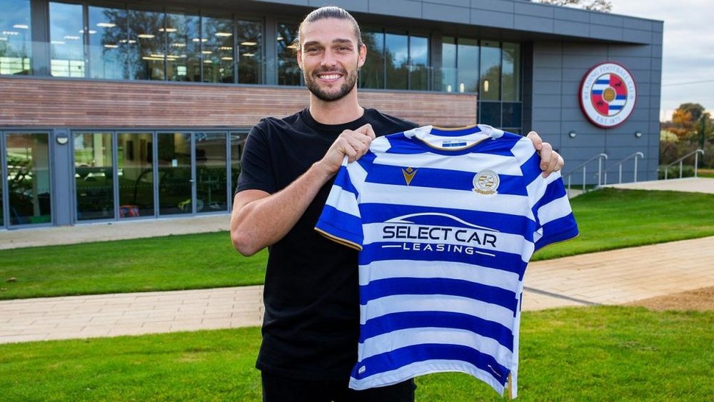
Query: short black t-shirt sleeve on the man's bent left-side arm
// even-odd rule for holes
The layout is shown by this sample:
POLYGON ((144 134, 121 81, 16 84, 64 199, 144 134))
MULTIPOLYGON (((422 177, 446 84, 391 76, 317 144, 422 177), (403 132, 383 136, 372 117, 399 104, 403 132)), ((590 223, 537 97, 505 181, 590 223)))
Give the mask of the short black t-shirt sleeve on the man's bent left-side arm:
POLYGON ((241 156, 241 174, 238 176, 236 193, 243 190, 261 190, 268 194, 278 191, 273 172, 271 153, 266 132, 261 121, 248 133, 246 146, 241 156))

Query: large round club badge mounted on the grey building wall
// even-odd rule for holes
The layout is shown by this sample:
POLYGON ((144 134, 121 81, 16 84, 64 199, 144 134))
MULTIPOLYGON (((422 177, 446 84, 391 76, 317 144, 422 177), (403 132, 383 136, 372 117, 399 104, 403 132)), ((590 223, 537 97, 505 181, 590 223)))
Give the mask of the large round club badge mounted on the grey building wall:
POLYGON ((598 64, 580 83, 580 109, 595 126, 623 124, 635 109, 637 88, 632 74, 616 63, 598 64))

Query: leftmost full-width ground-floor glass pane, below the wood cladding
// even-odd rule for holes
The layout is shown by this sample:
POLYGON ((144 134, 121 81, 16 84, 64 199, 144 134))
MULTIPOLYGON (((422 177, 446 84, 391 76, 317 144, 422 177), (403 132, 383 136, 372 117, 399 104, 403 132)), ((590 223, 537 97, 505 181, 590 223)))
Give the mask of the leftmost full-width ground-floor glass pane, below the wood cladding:
POLYGON ((11 225, 51 222, 49 135, 7 134, 7 189, 11 225))

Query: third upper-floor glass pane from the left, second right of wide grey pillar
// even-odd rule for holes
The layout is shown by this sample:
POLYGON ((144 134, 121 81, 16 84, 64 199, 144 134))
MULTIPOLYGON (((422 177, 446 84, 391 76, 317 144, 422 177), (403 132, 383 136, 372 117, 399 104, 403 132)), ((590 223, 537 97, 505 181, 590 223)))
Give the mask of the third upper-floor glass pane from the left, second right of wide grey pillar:
POLYGON ((126 10, 89 6, 89 76, 128 79, 126 54, 136 46, 127 39, 126 10))

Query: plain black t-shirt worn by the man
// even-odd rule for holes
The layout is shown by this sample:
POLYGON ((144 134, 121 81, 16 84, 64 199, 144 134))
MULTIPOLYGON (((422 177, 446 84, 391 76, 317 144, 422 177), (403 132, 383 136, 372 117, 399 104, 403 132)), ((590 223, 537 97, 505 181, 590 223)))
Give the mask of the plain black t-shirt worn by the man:
MULTIPOLYGON (((367 123, 377 136, 417 126, 375 109, 338 125, 318 123, 308 109, 284 119, 261 119, 248 134, 236 191, 280 191, 322 159, 342 131, 367 123)), ((314 230, 331 187, 332 181, 325 184, 291 231, 269 248, 263 343, 256 363, 263 371, 346 381, 357 360, 357 252, 314 230)))

